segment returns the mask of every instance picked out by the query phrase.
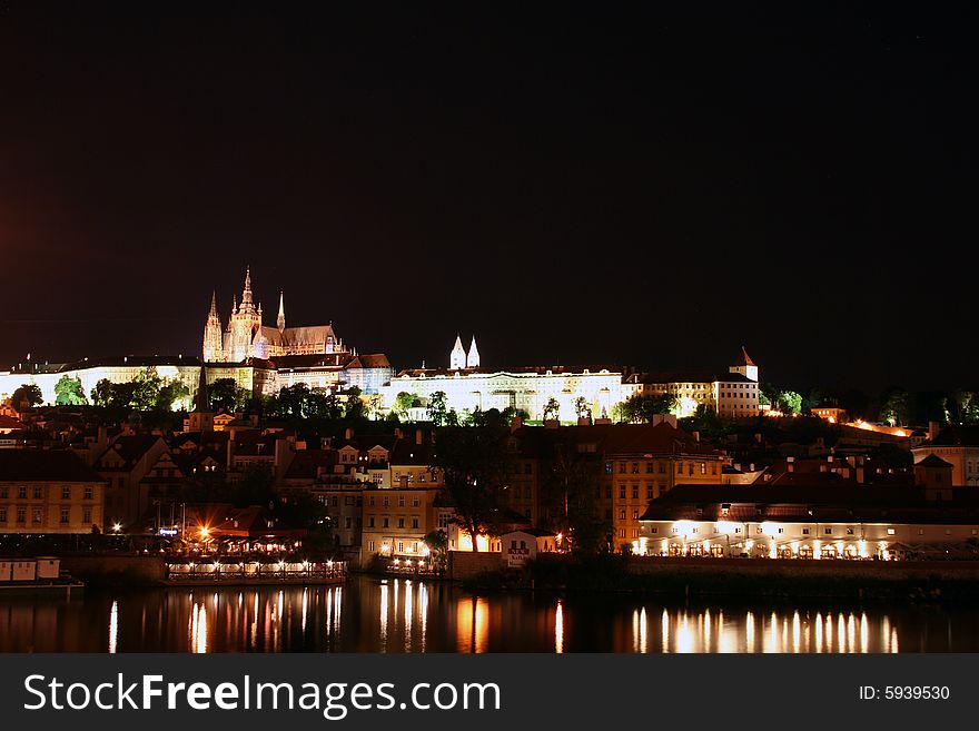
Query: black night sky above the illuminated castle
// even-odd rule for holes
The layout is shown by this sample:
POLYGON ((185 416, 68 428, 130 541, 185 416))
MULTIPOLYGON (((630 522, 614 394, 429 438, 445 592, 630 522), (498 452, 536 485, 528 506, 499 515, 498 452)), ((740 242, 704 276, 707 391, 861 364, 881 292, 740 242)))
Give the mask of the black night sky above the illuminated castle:
POLYGON ((199 355, 250 265, 395 367, 979 383, 967 3, 145 4, 0 2, 2 366, 199 355))

